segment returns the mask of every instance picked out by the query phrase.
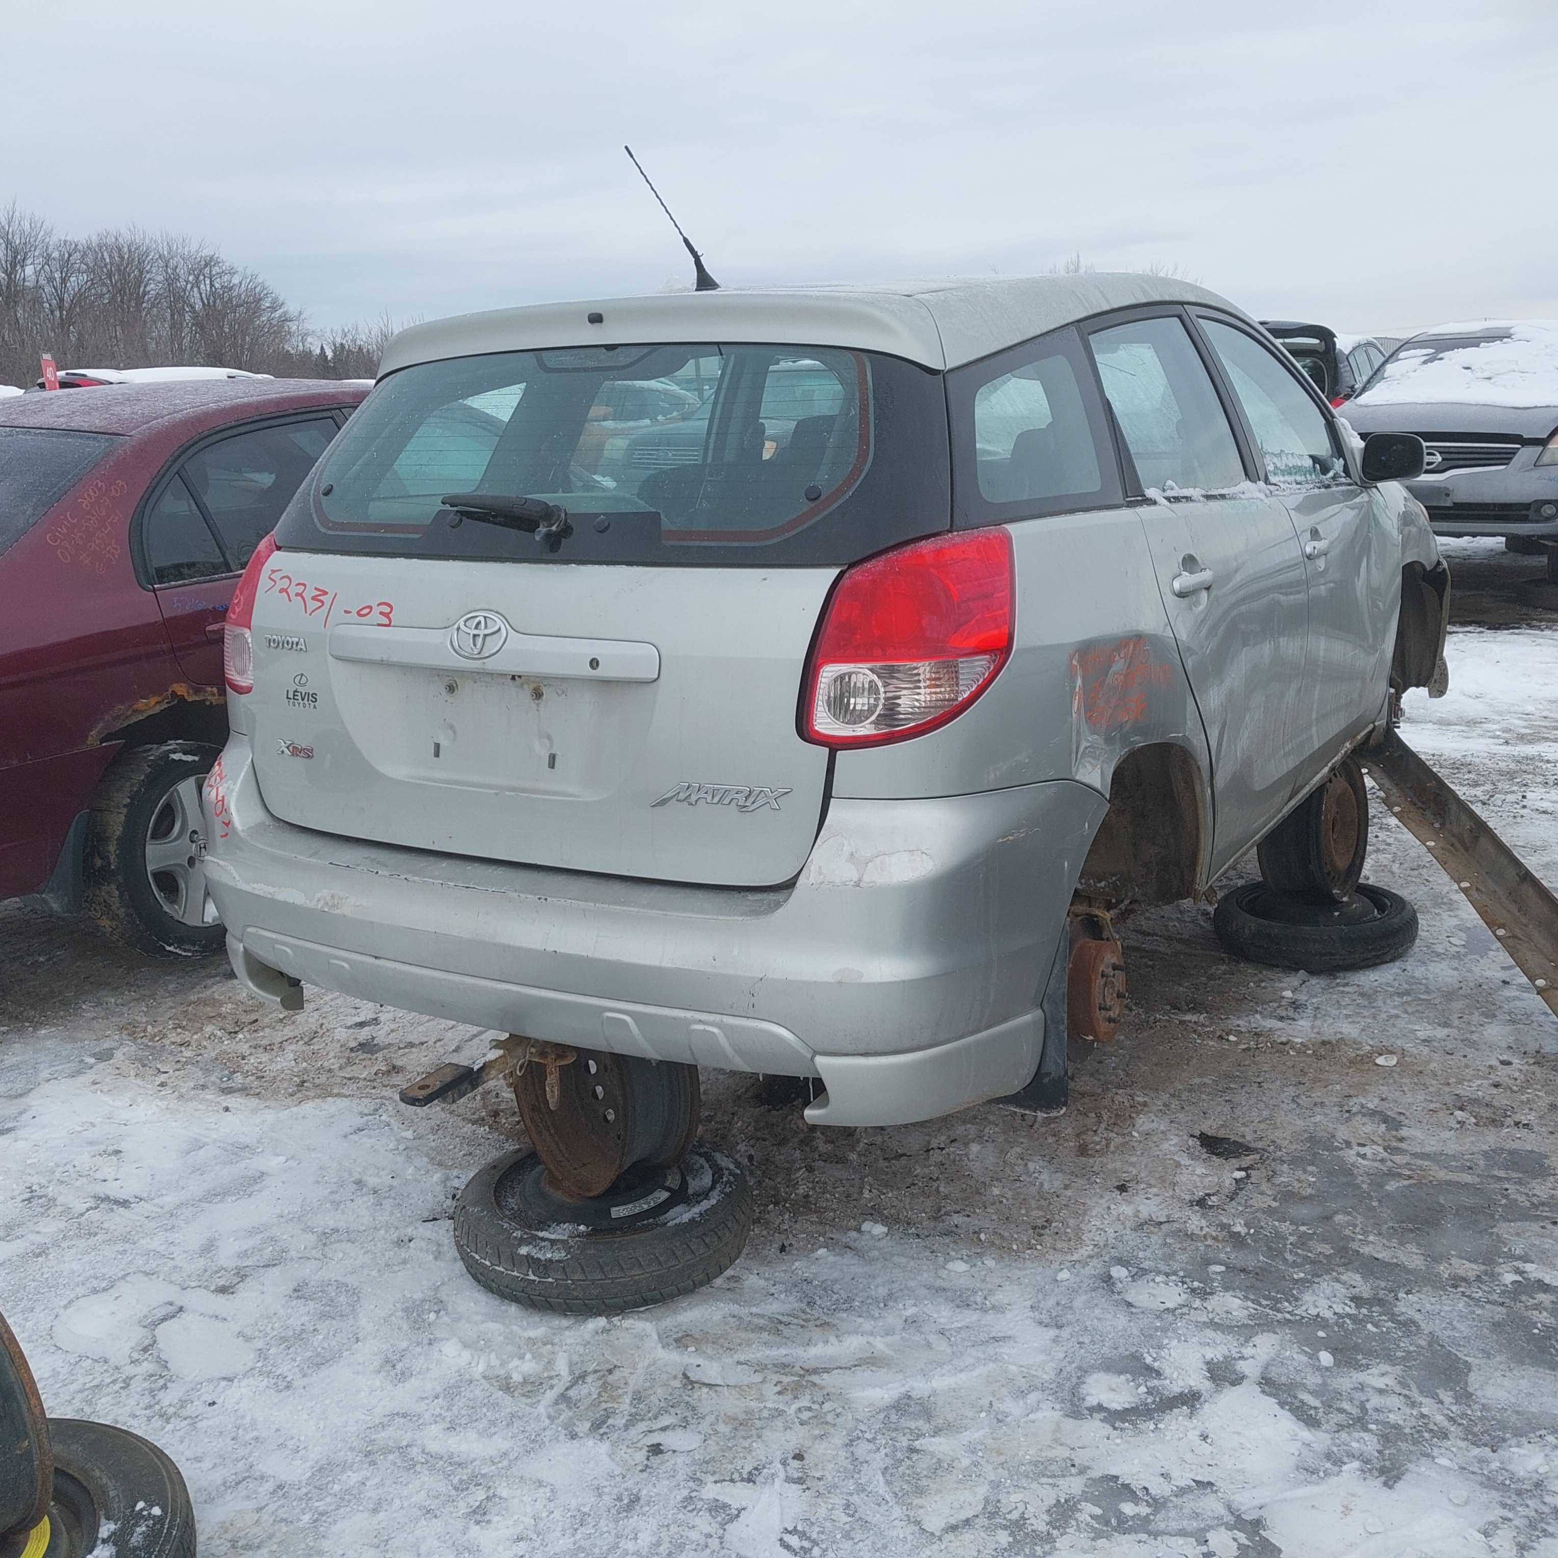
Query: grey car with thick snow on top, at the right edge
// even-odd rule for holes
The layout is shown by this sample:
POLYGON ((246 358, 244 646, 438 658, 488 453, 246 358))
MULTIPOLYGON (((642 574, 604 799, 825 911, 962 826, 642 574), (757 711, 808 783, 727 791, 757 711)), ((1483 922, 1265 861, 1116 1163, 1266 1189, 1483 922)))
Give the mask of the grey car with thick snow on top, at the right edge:
POLYGON ((1547 553, 1558 583, 1558 321, 1441 324, 1412 337, 1348 404, 1363 435, 1416 433, 1408 491, 1436 534, 1547 553))

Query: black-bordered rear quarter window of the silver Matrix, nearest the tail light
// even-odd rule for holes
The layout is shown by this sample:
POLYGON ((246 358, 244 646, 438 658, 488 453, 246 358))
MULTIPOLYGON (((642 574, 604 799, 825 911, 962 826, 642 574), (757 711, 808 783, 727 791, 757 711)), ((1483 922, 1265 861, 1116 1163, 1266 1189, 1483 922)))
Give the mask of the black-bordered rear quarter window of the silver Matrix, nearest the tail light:
POLYGON ((947 377, 958 523, 1106 508, 1120 500, 1103 404, 1075 330, 947 377))

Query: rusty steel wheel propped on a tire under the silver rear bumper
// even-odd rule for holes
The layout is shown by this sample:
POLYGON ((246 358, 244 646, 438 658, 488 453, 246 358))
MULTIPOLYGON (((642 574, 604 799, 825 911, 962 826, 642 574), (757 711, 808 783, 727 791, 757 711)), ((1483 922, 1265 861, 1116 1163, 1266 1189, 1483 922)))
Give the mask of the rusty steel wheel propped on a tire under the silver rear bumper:
POLYGON ((628 1168, 681 1162, 698 1130, 698 1067, 531 1042, 513 1072, 552 1189, 605 1195, 628 1168))

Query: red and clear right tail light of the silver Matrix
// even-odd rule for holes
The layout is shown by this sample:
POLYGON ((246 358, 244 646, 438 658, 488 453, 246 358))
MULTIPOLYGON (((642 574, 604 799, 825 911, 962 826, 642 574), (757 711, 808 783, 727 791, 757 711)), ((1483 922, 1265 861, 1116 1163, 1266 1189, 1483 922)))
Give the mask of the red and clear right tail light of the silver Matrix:
POLYGON ((882 746, 957 718, 1011 653, 1011 538, 932 536, 834 586, 807 667, 802 734, 882 746))

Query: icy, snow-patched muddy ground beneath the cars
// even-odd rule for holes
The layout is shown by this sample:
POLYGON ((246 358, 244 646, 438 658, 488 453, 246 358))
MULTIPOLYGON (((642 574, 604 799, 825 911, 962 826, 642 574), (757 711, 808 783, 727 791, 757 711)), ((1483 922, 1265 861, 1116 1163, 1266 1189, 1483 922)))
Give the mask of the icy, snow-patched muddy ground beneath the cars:
MULTIPOLYGON (((1455 553, 1496 625, 1405 735, 1558 882, 1558 617, 1508 605, 1539 562, 1455 553)), ((753 1242, 614 1321, 460 1267, 514 1125, 394 1102, 447 1027, 0 910, 0 1309, 51 1412, 178 1458, 206 1558, 1558 1558, 1558 1022, 1374 821, 1407 961, 1142 918, 1063 1119, 810 1130, 710 1078, 753 1242)))

